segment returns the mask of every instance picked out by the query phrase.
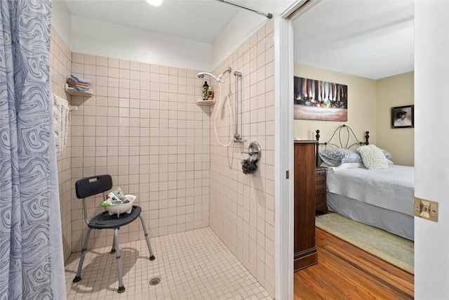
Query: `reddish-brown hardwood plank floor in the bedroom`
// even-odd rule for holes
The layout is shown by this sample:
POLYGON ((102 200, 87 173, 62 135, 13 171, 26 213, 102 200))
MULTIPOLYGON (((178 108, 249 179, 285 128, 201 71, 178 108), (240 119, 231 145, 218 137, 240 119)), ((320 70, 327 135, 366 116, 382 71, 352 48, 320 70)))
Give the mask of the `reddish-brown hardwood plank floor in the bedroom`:
POLYGON ((294 300, 413 299, 413 274, 316 228, 318 264, 294 275, 294 300))

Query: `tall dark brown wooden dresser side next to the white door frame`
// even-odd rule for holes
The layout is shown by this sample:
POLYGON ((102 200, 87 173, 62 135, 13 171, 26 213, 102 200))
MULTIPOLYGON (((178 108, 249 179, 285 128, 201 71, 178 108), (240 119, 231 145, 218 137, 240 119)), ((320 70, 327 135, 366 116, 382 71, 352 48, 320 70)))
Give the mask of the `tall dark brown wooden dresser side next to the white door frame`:
POLYGON ((315 247, 315 145, 295 141, 295 214, 293 270, 317 263, 315 247))

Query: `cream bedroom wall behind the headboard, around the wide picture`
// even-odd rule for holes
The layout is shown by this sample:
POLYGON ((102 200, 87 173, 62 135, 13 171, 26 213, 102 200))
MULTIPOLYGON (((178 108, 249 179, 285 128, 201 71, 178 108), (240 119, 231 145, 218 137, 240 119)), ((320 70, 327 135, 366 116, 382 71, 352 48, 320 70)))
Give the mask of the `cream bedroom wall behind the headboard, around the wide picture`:
MULTIPOLYGON (((370 143, 376 143, 376 81, 354 75, 334 72, 295 63, 294 75, 309 79, 335 82, 348 86, 348 121, 332 122, 295 119, 293 136, 303 140, 314 138, 314 132, 319 129, 320 141, 330 138, 337 126, 347 124, 354 130, 357 138, 364 141, 364 132, 370 131, 370 143)), ((293 100, 292 100, 293 101, 293 100)))

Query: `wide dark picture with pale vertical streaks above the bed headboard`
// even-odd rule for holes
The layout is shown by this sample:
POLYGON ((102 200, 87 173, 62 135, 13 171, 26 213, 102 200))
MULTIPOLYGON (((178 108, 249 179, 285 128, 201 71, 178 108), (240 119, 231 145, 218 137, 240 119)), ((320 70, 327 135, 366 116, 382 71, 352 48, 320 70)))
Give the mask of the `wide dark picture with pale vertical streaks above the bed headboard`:
POLYGON ((293 77, 295 119, 348 120, 348 86, 333 82, 293 77))

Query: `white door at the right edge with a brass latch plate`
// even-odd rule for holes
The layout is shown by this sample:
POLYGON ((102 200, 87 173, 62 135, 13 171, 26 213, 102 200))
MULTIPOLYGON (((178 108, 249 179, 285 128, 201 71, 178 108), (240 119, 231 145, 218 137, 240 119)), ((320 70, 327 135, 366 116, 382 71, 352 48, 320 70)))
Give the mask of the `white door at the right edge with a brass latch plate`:
POLYGON ((415 196, 438 223, 415 218, 415 299, 449 299, 449 1, 415 1, 415 196))

